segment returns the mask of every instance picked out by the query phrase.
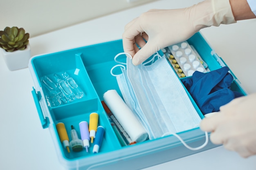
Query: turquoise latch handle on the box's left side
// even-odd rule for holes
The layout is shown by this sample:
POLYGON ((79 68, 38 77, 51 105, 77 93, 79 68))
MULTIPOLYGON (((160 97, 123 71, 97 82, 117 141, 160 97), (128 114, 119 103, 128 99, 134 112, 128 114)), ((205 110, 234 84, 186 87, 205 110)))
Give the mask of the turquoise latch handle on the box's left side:
POLYGON ((39 103, 40 99, 42 98, 42 95, 41 95, 40 91, 38 91, 38 93, 36 93, 36 89, 34 87, 33 87, 33 91, 31 91, 31 93, 33 95, 33 98, 34 98, 34 101, 35 101, 35 104, 36 104, 36 109, 37 109, 41 124, 42 124, 44 129, 48 128, 49 124, 50 124, 49 118, 45 117, 43 115, 43 112, 42 112, 42 109, 41 109, 41 106, 40 106, 40 103, 39 103))

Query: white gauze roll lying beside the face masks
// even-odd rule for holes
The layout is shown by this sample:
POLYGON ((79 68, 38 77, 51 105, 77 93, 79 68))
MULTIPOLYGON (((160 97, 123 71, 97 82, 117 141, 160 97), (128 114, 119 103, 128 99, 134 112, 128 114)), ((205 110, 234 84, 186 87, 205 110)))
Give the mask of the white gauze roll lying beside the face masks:
POLYGON ((103 100, 133 141, 138 143, 148 138, 145 128, 116 90, 104 93, 103 100))

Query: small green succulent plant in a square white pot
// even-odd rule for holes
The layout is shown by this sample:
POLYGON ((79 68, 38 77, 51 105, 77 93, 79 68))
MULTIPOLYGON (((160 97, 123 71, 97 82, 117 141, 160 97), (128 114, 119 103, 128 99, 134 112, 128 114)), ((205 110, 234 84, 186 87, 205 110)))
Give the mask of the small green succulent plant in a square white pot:
POLYGON ((26 68, 31 57, 29 33, 17 26, 0 31, 0 50, 10 71, 26 68))

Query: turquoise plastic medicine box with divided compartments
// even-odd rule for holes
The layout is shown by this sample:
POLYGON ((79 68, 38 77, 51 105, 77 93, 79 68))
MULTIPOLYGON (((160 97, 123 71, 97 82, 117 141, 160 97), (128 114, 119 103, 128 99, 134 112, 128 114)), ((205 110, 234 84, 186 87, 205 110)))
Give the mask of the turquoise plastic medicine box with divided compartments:
MULTIPOLYGON (((193 35, 187 42, 195 47, 210 70, 226 66, 200 33, 193 35)), ((201 150, 192 151, 185 148, 173 135, 122 147, 101 105, 103 93, 106 91, 115 89, 121 95, 116 77, 110 74, 110 69, 117 64, 114 57, 121 52, 122 40, 115 40, 31 58, 29 69, 35 85, 32 94, 41 124, 43 128, 49 128, 61 164, 69 170, 139 170, 216 147, 209 142, 201 150), (63 71, 73 77, 85 95, 73 102, 49 107, 45 99, 45 87, 40 79, 45 75, 50 77, 63 71), (89 152, 84 149, 81 152, 71 150, 68 153, 60 141, 56 124, 65 124, 71 140, 70 126, 73 125, 80 134, 79 122, 89 122, 89 115, 94 112, 99 114, 99 125, 105 128, 99 153, 92 153, 92 144, 89 152)), ((233 76, 232 90, 246 94, 234 74, 233 76)), ((189 97, 193 102, 192 97, 189 97)), ((198 114, 203 117, 195 102, 193 104, 198 114)), ((205 141, 205 134, 200 128, 180 132, 179 135, 192 147, 200 146, 205 141)))

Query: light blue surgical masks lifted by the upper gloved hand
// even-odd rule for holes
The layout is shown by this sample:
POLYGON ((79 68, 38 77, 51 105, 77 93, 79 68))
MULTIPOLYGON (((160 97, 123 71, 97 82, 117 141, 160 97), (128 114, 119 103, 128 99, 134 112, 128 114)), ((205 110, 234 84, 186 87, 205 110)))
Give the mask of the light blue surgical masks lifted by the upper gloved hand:
POLYGON ((120 64, 123 67, 122 74, 117 75, 120 91, 128 107, 147 130, 149 139, 175 135, 191 150, 200 149, 208 143, 207 132, 206 142, 198 148, 187 146, 176 134, 197 128, 201 118, 165 57, 157 53, 139 66, 134 66, 127 57, 127 70, 120 64))

